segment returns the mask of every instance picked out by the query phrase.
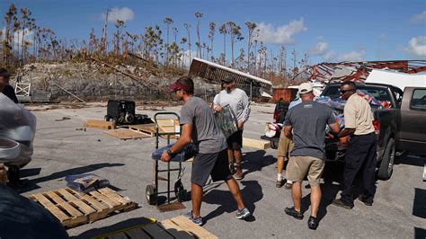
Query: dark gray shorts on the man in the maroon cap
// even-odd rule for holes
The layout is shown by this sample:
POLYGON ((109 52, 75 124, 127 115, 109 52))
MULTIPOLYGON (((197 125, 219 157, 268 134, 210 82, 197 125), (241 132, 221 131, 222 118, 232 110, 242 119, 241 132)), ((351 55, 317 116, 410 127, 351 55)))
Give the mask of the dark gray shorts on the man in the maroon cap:
POLYGON ((191 182, 201 187, 206 185, 209 175, 213 181, 232 179, 227 165, 226 149, 213 154, 199 154, 192 163, 191 182))

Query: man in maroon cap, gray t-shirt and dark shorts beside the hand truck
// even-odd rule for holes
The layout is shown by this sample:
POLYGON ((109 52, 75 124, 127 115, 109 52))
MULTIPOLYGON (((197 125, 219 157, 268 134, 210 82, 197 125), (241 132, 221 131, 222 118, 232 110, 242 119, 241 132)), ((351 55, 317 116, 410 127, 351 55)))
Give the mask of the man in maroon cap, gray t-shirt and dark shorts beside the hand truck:
POLYGON ((199 149, 199 154, 195 156, 192 163, 192 211, 187 217, 199 226, 203 224, 200 217, 202 188, 209 179, 209 175, 213 181, 226 181, 238 208, 236 218, 249 217, 251 213, 244 206, 238 183, 227 167, 226 137, 218 127, 213 111, 206 102, 193 96, 194 83, 190 77, 179 78, 170 86, 170 89, 174 91, 178 100, 185 102, 181 111, 182 135, 170 149, 163 152, 161 160, 169 162, 173 155, 180 152, 191 141, 199 149))

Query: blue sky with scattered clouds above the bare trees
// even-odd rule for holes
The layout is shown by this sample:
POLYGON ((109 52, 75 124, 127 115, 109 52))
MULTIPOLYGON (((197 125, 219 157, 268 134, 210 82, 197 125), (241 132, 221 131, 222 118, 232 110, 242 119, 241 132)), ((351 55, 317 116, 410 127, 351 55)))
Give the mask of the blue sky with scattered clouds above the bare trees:
MULTIPOLYGON (((57 32, 59 39, 88 38, 93 28, 102 30, 102 13, 115 9, 126 18, 127 30, 142 33, 147 25, 165 30, 165 17, 173 18, 179 39, 186 36, 184 22, 192 25, 195 42, 195 12, 203 13, 201 41, 209 42, 209 22, 257 22, 262 40, 274 55, 280 45, 310 56, 310 63, 341 60, 387 60, 426 58, 426 1, 0 1, 3 15, 9 4, 28 7, 38 25, 57 32), (124 10, 123 10, 124 8, 124 10), (127 9, 128 8, 128 9, 127 9)), ((110 24, 110 32, 113 23, 110 24)), ((3 28, 3 26, 2 26, 3 28)), ((165 31, 164 31, 165 32, 165 31)), ((215 37, 215 53, 222 51, 223 37, 215 37)), ((226 43, 227 51, 229 43, 226 43)), ((195 50, 193 44, 192 50, 195 50)), ((236 49, 244 47, 245 40, 236 49)), ((238 55, 235 50, 235 55, 238 55)), ((218 54, 216 54, 218 55, 218 54)), ((230 56, 229 52, 227 56, 230 56)))

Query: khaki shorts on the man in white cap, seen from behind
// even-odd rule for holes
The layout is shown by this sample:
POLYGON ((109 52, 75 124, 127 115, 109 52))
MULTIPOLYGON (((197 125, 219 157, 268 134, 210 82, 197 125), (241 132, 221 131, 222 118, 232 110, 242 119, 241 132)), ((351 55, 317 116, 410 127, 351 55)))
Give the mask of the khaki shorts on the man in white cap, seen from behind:
POLYGON ((311 156, 291 156, 288 161, 286 178, 289 181, 302 182, 307 174, 311 187, 319 187, 324 171, 324 160, 311 156))

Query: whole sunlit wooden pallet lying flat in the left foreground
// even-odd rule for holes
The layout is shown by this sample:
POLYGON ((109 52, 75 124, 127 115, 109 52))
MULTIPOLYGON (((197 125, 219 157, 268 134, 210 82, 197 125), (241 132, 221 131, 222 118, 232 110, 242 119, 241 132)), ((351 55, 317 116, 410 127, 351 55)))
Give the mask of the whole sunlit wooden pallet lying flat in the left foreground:
POLYGON ((137 203, 123 198, 110 188, 93 190, 87 194, 65 188, 32 194, 29 198, 48 209, 67 228, 138 208, 137 203))

